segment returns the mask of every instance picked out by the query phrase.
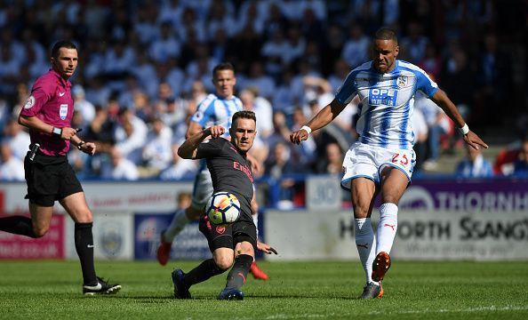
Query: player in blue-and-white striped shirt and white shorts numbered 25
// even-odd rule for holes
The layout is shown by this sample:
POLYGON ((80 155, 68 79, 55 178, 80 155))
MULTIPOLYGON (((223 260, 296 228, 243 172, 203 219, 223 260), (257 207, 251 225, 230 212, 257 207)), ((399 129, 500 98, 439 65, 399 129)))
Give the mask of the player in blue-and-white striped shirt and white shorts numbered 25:
POLYGON ((356 248, 366 276, 362 299, 383 295, 381 280, 390 267, 397 204, 411 181, 415 162, 411 126, 414 94, 424 92, 443 108, 471 148, 488 148, 468 129, 452 101, 422 69, 396 60, 398 51, 395 32, 380 28, 373 39, 372 60, 353 69, 334 100, 290 136, 296 144, 307 140, 310 132, 332 122, 350 100, 359 96, 363 105, 356 124, 359 138, 343 161, 341 187, 350 190, 354 206, 356 248), (380 223, 374 236, 371 214, 378 194, 380 223))

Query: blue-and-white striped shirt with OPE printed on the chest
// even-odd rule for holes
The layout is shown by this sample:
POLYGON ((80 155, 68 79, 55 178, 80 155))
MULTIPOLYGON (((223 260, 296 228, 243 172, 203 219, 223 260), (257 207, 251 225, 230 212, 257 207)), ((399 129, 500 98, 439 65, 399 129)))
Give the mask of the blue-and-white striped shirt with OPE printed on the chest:
POLYGON ((412 149, 414 133, 411 116, 414 94, 429 98, 438 85, 412 63, 396 60, 396 67, 380 74, 372 61, 353 69, 336 93, 336 100, 347 105, 356 94, 362 103, 356 131, 359 141, 384 148, 412 149))

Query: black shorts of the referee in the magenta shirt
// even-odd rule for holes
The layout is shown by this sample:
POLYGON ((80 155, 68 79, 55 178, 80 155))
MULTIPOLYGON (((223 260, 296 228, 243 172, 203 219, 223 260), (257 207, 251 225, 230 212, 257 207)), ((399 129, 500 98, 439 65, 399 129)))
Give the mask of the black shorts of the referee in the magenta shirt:
POLYGON ((55 200, 83 192, 83 187, 68 164, 66 156, 36 154, 34 161, 26 156, 24 170, 28 184, 26 199, 32 204, 52 206, 55 200))

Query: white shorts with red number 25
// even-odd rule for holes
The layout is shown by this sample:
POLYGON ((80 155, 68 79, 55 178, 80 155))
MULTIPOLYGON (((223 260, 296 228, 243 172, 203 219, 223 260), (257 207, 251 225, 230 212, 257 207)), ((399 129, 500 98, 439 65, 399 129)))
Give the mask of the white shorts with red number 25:
POLYGON ((411 181, 412 170, 416 164, 414 150, 382 148, 354 142, 343 160, 343 178, 341 188, 350 189, 350 181, 366 178, 380 183, 380 172, 388 165, 401 170, 411 181))

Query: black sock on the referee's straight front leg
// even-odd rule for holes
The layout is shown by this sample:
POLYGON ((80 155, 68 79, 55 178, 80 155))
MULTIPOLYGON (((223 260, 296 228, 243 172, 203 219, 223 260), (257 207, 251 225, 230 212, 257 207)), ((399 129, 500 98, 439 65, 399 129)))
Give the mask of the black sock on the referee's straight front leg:
POLYGON ((97 285, 95 268, 93 267, 93 235, 92 222, 76 223, 76 252, 81 260, 83 279, 86 285, 97 285))

